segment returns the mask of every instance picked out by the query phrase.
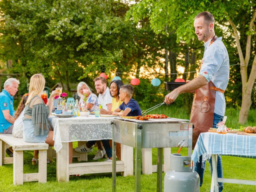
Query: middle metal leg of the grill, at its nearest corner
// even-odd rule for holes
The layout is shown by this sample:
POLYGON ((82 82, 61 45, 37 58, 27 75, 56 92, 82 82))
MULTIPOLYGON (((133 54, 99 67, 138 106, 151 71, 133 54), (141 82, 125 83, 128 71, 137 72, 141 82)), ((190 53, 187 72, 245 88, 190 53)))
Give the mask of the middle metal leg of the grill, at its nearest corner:
POLYGON ((141 129, 137 129, 137 141, 135 149, 135 192, 140 192, 140 174, 141 174, 141 129))

